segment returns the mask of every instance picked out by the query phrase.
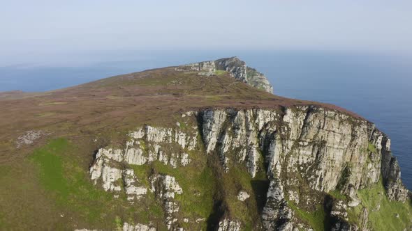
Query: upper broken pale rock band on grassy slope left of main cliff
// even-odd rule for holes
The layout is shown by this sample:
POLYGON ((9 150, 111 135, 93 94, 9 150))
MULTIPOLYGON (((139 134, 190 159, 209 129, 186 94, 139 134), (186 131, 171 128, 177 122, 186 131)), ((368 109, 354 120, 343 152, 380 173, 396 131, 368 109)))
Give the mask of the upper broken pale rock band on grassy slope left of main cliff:
MULTIPOLYGON (((102 182, 105 191, 126 191, 128 200, 142 198, 147 189, 139 185, 133 169, 127 165, 143 165, 159 160, 173 168, 186 166, 191 162, 184 150, 193 150, 197 143, 197 130, 182 132, 179 129, 167 129, 145 126, 130 132, 126 148, 101 148, 90 167, 90 177, 102 182), (170 145, 172 144, 172 145, 170 145), (178 147, 171 148, 173 144, 178 147), (126 165, 125 165, 126 164, 126 165)), ((118 195, 116 195, 118 196, 118 195)))

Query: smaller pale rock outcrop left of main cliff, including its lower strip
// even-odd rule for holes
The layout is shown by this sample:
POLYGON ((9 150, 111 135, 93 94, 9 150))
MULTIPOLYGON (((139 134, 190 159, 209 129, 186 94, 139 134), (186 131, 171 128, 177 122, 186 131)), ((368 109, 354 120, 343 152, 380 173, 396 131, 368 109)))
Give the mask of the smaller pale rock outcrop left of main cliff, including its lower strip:
MULTIPOLYGON (((194 116, 187 112, 185 115, 194 116)), ((161 203, 165 213, 165 224, 168 230, 180 230, 178 219, 179 203, 174 200, 175 194, 182 194, 175 177, 153 173, 149 179, 149 186, 141 183, 135 175, 133 166, 151 164, 159 161, 172 168, 184 168, 191 163, 187 152, 194 150, 198 145, 198 129, 189 128, 184 132, 180 128, 151 127, 145 125, 127 135, 123 147, 100 148, 96 153, 94 163, 89 169, 94 184, 101 184, 105 191, 114 193, 119 198, 126 193, 127 200, 133 204, 139 202, 147 193, 154 196, 161 203)), ((124 230, 155 230, 147 225, 124 224, 124 230)))

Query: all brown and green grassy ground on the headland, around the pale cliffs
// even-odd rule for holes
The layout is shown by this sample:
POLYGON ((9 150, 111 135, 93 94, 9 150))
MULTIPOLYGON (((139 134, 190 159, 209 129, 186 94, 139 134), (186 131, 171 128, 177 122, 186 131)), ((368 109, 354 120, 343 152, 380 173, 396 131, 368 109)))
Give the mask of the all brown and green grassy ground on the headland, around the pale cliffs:
MULTIPOLYGON (((143 123, 174 125, 179 117, 173 115, 189 109, 228 106, 277 109, 302 104, 339 109, 270 95, 235 81, 226 72, 200 77, 196 72, 174 72, 172 68, 126 74, 23 98, 15 95, 3 98, 0 100, 3 109, 0 116, 4 118, 0 121, 0 229, 116 228, 123 221, 133 220, 154 221, 162 228, 163 212, 151 193, 142 206, 131 207, 125 198, 116 200, 112 194, 91 184, 87 170, 96 144, 84 143, 85 140, 98 137, 103 140, 98 145, 124 143, 122 137, 131 127, 143 123), (34 146, 17 150, 15 139, 30 129, 42 129, 51 135, 34 146)), ((216 173, 207 164, 207 157, 202 156, 203 151, 189 154, 197 164, 186 168, 185 172, 157 162, 151 166, 135 166, 134 170, 140 176, 147 176, 152 168, 174 175, 187 192, 177 196, 183 205, 182 217, 207 216, 213 209, 216 191, 221 190, 230 216, 239 217, 245 227, 253 229, 251 223, 256 223, 258 209, 262 206, 259 201, 262 192, 256 190, 256 185, 267 184, 265 177, 251 180, 244 168, 234 167, 219 181, 213 177, 216 173), (222 185, 223 189, 219 189, 222 185), (239 189, 251 194, 247 204, 235 199, 239 189), (198 191, 199 198, 189 197, 189 193, 198 191)), ((366 206, 371 207, 378 200, 374 194, 364 194, 361 192, 360 196, 365 199, 366 206)), ((407 214, 411 212, 409 206, 379 200, 382 200, 382 212, 371 212, 371 221, 376 220, 376 224, 381 225, 378 228, 388 226, 378 220, 391 216, 392 221, 394 211, 400 211, 398 219, 402 222, 410 217, 407 214)), ((323 229, 322 209, 312 214, 291 207, 316 230, 323 229)), ((205 223, 199 228, 205 228, 205 223)))

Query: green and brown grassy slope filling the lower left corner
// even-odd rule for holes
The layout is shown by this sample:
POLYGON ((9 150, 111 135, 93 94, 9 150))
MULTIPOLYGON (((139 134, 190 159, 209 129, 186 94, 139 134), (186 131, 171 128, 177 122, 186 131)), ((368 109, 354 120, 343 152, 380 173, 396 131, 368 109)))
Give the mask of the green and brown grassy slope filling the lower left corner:
POLYGON ((0 178, 0 184, 8 185, 2 189, 1 230, 115 229, 117 220, 136 218, 156 224, 159 209, 154 211, 153 201, 133 207, 124 197, 113 198, 112 193, 91 183, 87 168, 75 152, 82 150, 67 139, 58 138, 36 149, 22 166, 10 166, 13 170, 1 168, 7 173, 0 178), (151 210, 147 211, 144 205, 151 210))

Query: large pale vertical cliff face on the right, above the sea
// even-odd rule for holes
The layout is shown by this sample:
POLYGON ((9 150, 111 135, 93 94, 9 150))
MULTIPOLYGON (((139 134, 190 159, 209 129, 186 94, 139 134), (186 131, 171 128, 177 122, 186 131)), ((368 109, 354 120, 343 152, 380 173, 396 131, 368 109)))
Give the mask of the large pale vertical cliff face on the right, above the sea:
POLYGON ((408 196, 390 140, 366 120, 315 106, 201 115, 206 150, 219 155, 226 171, 243 164, 252 177, 259 170, 267 173, 266 230, 299 227, 291 225, 293 213, 285 198, 310 207, 322 202, 316 198, 320 192, 339 190, 350 198, 345 207, 355 207, 360 204, 356 191, 377 184, 380 177, 390 200, 404 202, 408 196))

